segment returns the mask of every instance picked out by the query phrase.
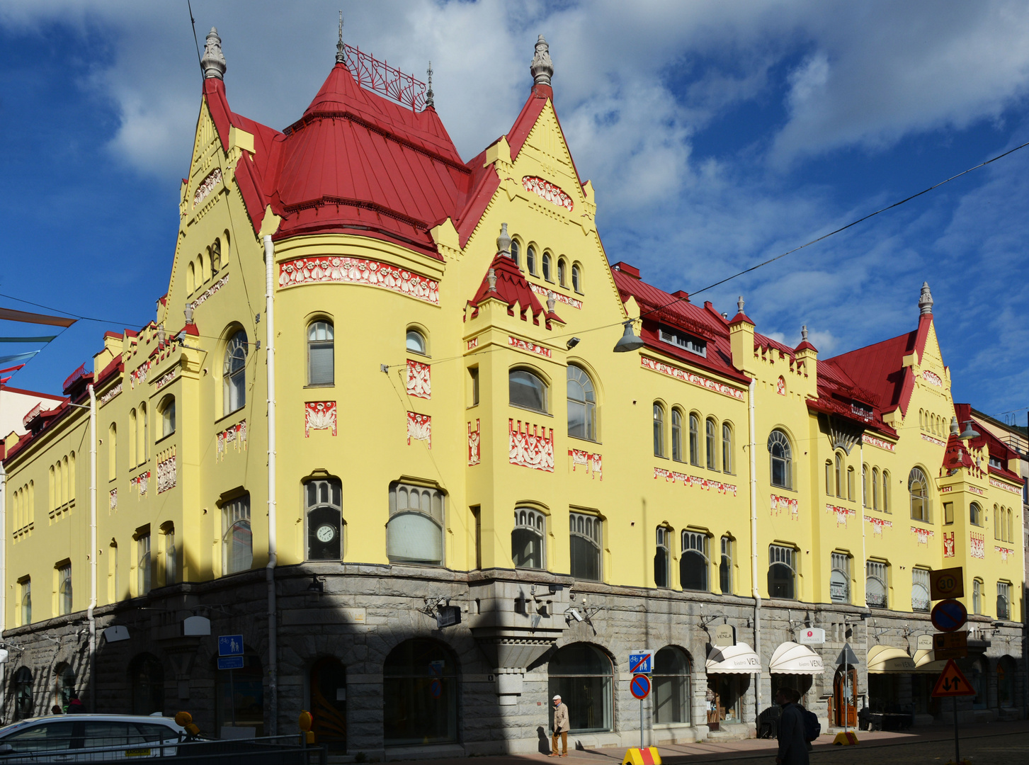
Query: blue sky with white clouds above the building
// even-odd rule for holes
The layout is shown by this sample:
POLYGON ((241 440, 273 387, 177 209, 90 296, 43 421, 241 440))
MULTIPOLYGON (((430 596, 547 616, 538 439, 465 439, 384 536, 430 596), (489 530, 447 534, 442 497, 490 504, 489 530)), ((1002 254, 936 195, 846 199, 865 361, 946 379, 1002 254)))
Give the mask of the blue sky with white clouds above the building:
MULTIPOLYGON (((525 101, 535 36, 611 260, 695 292, 1029 141, 1023 3, 342 3, 345 36, 416 76, 465 158, 525 101)), ((335 2, 193 3, 234 110, 281 129, 334 54, 335 2)), ((167 289, 200 103, 185 2, 0 6, 0 292, 80 321, 11 381, 59 392, 167 289)), ((822 356, 914 328, 923 280, 956 401, 1029 406, 1029 147, 709 290, 822 356)), ((32 310, 0 298, 0 305, 32 310)), ((41 334, 0 322, 0 335, 41 334)), ((0 355, 21 348, 4 346, 0 355)))

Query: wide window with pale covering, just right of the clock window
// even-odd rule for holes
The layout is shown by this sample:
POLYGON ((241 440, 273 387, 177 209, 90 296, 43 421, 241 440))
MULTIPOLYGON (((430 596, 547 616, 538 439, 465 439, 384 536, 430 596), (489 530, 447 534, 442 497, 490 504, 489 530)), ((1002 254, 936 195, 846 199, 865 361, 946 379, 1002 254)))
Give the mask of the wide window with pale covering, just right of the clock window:
POLYGON ((443 500, 439 489, 390 485, 386 555, 391 563, 443 564, 443 500))

